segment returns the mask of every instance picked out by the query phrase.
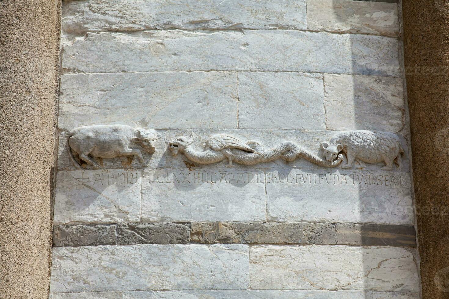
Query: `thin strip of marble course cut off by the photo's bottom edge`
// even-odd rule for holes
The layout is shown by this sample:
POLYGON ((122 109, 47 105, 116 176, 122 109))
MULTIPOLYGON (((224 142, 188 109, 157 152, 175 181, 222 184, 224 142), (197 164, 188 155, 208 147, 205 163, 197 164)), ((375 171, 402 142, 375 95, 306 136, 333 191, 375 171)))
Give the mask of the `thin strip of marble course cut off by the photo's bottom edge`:
POLYGON ((173 290, 53 293, 49 299, 419 299, 419 293, 330 290, 173 290))

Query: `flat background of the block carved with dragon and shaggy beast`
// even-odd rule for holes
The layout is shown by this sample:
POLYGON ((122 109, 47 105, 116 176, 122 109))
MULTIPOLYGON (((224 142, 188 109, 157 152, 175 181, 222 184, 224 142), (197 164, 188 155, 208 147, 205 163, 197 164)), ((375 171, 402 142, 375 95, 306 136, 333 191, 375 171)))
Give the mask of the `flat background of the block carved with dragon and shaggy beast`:
MULTIPOLYGON (((195 155, 200 155, 199 153, 207 149, 206 143, 208 139, 214 134, 230 134, 235 138, 241 140, 243 143, 249 140, 259 141, 264 145, 265 150, 269 151, 273 149, 273 152, 280 150, 280 144, 284 141, 295 142, 299 147, 303 148, 309 153, 322 158, 322 152, 320 151, 320 144, 323 141, 329 142, 329 140, 337 132, 335 131, 321 131, 321 130, 168 130, 166 140, 167 142, 172 142, 178 136, 189 137, 190 133, 194 133, 194 140, 191 144, 192 149, 197 152, 195 155)), ((405 153, 402 155, 403 168, 402 171, 408 171, 409 169, 409 157, 407 150, 406 140, 400 136, 401 146, 403 147, 405 153)), ((273 162, 258 163, 256 165, 239 165, 233 163, 232 166, 228 165, 228 160, 224 160, 220 163, 214 164, 196 164, 191 160, 187 159, 184 154, 180 153, 177 156, 173 156, 170 151, 166 152, 167 167, 168 168, 189 168, 189 169, 254 169, 254 168, 264 168, 264 169, 319 169, 319 170, 329 170, 333 171, 338 169, 326 169, 322 166, 318 166, 309 162, 304 158, 298 158, 292 162, 286 162, 282 159, 274 160, 273 162)), ((366 164, 364 170, 377 170, 379 171, 383 167, 384 163, 366 164)), ((352 169, 357 169, 356 165, 353 165, 352 169)), ((396 170, 396 169, 395 169, 396 170)), ((298 222, 298 221, 295 221, 298 222)))

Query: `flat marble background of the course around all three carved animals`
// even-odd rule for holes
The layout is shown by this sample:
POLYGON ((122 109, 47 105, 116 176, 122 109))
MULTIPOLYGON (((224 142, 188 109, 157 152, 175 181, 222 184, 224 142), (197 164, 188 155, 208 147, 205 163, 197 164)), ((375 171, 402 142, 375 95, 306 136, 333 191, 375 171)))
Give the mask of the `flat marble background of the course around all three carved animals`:
MULTIPOLYGON (((162 135, 160 139, 156 142, 156 151, 153 154, 148 154, 145 151, 142 152, 145 163, 142 165, 139 160, 134 157, 118 157, 114 159, 97 159, 97 163, 103 169, 318 169, 318 170, 330 170, 326 169, 304 158, 298 158, 292 162, 286 162, 282 159, 274 160, 269 163, 259 163, 256 165, 239 165, 234 163, 232 166, 228 165, 228 161, 222 161, 220 163, 199 165, 190 160, 188 160, 183 154, 179 154, 176 157, 172 156, 171 152, 167 148, 167 143, 176 139, 176 137, 184 135, 189 136, 190 133, 194 133, 194 140, 192 143, 192 148, 197 152, 202 152, 207 143, 207 140, 213 134, 230 134, 234 137, 242 140, 242 142, 247 142, 249 140, 257 140, 264 145, 268 150, 270 148, 275 148, 284 141, 292 141, 298 144, 298 146, 304 148, 304 150, 314 154, 315 156, 321 157, 320 144, 324 141, 328 142, 337 132, 329 130, 264 130, 264 129, 191 129, 191 130, 158 130, 162 135)), ((61 132, 59 134, 58 143, 58 170, 75 170, 79 169, 79 165, 75 164, 70 156, 69 146, 67 143, 68 132, 61 132)), ((409 171, 409 156, 408 156, 408 144, 404 137, 399 136, 401 140, 401 146, 404 148, 404 154, 402 155, 403 165, 401 171, 409 171)), ((370 163, 366 164, 364 170, 376 170, 379 171, 383 167, 383 163, 370 163)), ((90 169, 87 166, 86 169, 90 169)), ((335 168, 335 169, 338 169, 335 168)), ((354 165, 354 170, 357 166, 354 165)), ((393 169, 393 171, 396 169, 393 169)))

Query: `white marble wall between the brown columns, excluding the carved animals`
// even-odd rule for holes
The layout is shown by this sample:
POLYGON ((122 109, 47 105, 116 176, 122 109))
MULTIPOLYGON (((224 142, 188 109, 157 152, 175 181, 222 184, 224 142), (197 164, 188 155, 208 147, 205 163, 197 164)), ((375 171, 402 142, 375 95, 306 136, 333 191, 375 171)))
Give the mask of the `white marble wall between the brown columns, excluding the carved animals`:
POLYGON ((50 298, 418 299, 398 11, 63 1, 50 298), (83 165, 70 131, 97 125, 161 138, 143 163, 83 165), (328 168, 304 155, 242 165, 213 150, 214 136, 232 136, 322 157, 320 144, 348 130, 396 134, 403 167, 328 168), (193 157, 173 155, 179 136, 192 137, 193 157), (203 151, 224 159, 202 163, 203 151))

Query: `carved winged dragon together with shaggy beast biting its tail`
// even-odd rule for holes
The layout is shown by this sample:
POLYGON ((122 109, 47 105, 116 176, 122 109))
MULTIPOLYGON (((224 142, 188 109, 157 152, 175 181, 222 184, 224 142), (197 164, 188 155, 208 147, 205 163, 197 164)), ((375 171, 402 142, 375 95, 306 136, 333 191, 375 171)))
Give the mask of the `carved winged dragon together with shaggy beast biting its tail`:
POLYGON ((214 164, 223 160, 227 160, 229 166, 232 166, 233 161, 242 165, 275 160, 288 163, 302 158, 315 165, 332 168, 339 165, 346 156, 347 161, 342 168, 353 168, 355 161, 355 168, 358 169, 364 169, 365 163, 384 163, 382 170, 392 170, 393 163, 400 170, 403 167, 402 155, 405 152, 396 134, 367 130, 350 130, 335 134, 329 143, 321 143, 322 158, 308 152, 294 141, 283 140, 271 148, 266 148, 260 141, 243 141, 233 134, 221 133, 202 136, 202 139, 206 140, 205 145, 202 150, 197 150, 192 144, 194 139, 194 132, 168 139, 168 149, 173 157, 182 153, 195 165, 214 164))

